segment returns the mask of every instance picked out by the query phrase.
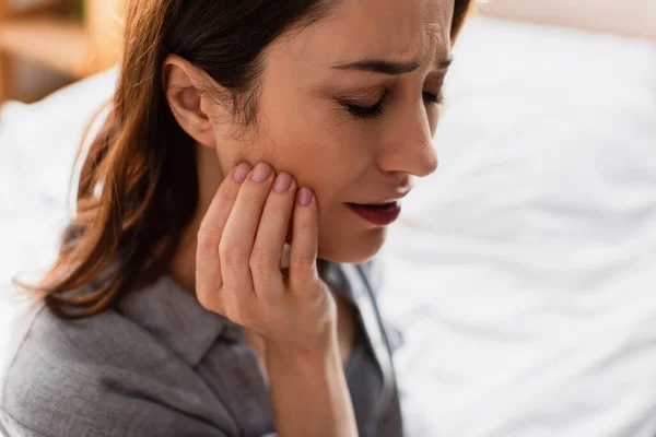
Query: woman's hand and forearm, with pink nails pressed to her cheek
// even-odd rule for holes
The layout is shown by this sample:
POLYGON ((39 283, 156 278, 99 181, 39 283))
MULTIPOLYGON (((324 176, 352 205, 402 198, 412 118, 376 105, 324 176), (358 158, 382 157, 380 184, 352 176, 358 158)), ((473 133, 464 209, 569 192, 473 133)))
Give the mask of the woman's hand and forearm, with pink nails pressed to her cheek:
POLYGON ((239 164, 200 225, 196 293, 265 340, 281 437, 356 436, 337 341, 337 307, 317 273, 317 202, 290 174, 239 164), (289 275, 281 257, 292 221, 289 275))

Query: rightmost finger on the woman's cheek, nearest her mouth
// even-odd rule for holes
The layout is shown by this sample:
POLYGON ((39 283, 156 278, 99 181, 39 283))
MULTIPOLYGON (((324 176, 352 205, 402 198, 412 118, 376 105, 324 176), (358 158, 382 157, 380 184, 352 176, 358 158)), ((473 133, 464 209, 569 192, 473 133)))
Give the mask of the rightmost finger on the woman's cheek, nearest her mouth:
POLYGON ((293 213, 292 247, 290 250, 290 285, 303 292, 316 280, 318 247, 317 201, 312 190, 301 188, 296 193, 293 213))

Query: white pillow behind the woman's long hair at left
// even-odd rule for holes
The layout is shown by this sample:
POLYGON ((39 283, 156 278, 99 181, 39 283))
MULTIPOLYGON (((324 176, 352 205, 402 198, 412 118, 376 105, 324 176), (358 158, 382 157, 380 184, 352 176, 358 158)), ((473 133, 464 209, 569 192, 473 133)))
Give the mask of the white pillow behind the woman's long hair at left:
POLYGON ((36 104, 0 109, 0 358, 17 309, 11 280, 34 279, 55 260, 75 152, 115 80, 112 70, 36 104))

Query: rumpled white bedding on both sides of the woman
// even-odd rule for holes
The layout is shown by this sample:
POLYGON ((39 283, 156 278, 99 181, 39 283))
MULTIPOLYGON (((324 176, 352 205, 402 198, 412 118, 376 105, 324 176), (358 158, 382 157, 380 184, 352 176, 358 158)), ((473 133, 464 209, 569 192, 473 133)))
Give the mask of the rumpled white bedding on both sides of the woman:
MULTIPOLYGON (((476 19, 455 58, 383 253, 410 436, 653 436, 656 45, 476 19)), ((55 256, 114 78, 0 111, 0 284, 55 256)))

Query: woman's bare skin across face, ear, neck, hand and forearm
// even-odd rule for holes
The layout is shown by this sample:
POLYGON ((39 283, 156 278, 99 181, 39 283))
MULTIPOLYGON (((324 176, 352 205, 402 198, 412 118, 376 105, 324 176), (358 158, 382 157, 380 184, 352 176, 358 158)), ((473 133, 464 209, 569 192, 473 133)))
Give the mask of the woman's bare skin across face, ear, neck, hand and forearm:
POLYGON ((414 177, 435 170, 441 107, 431 95, 441 93, 445 69, 436 66, 450 55, 452 15, 453 0, 343 1, 268 47, 257 122, 242 135, 202 92, 220 85, 179 57, 166 59, 167 99, 198 143, 200 182, 171 272, 206 308, 246 327, 282 436, 356 435, 341 367, 353 314, 336 303, 316 258, 372 258, 386 227, 345 203, 407 193, 414 177), (332 68, 361 59, 420 67, 401 75, 332 68), (370 107, 382 96, 383 114, 367 120, 340 102, 370 107), (274 189, 277 178, 289 186, 274 189), (280 269, 285 237, 289 272, 280 269))

